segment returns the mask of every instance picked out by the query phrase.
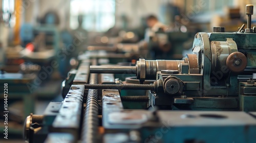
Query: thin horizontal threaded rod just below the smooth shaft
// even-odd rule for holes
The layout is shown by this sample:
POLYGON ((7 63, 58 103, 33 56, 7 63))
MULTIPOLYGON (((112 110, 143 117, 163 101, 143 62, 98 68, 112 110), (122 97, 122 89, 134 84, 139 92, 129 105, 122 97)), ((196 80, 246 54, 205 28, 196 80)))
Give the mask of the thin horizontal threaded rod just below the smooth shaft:
POLYGON ((84 84, 86 89, 154 90, 154 84, 84 84))

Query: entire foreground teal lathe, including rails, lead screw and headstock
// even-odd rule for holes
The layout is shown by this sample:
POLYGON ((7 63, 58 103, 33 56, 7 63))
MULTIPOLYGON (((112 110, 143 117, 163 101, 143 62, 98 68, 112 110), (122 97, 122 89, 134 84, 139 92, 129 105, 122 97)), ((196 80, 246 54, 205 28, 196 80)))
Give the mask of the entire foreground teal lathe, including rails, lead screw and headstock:
POLYGON ((246 6, 246 14, 245 30, 243 25, 233 33, 225 33, 223 27, 215 27, 213 33, 197 33, 193 54, 181 60, 141 58, 135 66, 81 61, 69 74, 72 85, 63 102, 51 102, 44 115, 27 117, 26 140, 255 142, 252 5, 246 6), (136 78, 123 82, 115 79, 118 74, 136 78), (123 90, 133 94, 123 96, 123 90), (134 109, 134 103, 146 104, 147 109, 134 109))

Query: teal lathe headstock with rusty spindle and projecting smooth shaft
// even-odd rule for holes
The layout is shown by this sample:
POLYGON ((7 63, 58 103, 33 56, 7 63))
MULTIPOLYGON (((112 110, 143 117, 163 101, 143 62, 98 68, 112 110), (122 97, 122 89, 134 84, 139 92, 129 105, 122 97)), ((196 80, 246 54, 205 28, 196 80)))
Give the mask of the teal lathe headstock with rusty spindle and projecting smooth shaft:
MULTIPOLYGON (((247 28, 226 33, 195 35, 193 53, 182 60, 137 61, 125 67, 136 73, 140 83, 156 80, 148 90, 148 106, 173 110, 256 111, 256 27, 251 28, 253 6, 246 7, 247 28), (254 76, 252 76, 254 74, 254 76)), ((91 66, 91 73, 124 74, 122 66, 91 66), (104 71, 103 71, 104 70, 104 71)))

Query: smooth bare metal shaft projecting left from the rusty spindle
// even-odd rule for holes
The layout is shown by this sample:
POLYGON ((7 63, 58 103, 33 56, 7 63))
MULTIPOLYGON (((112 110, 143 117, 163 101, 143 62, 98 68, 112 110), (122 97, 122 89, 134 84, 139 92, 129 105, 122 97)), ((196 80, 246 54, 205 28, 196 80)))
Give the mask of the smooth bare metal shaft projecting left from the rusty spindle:
POLYGON ((104 65, 90 66, 90 73, 95 74, 136 74, 136 66, 116 66, 116 65, 104 65))

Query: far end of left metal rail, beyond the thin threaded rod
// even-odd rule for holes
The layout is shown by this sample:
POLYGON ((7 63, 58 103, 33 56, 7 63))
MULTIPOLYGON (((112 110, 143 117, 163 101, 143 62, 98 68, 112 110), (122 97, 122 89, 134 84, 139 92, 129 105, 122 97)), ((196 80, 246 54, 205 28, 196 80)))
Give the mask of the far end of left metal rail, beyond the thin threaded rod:
POLYGON ((84 60, 81 62, 77 69, 76 76, 74 78, 73 84, 86 84, 88 83, 89 73, 90 73, 90 61, 84 60))

